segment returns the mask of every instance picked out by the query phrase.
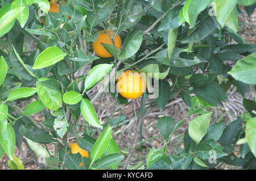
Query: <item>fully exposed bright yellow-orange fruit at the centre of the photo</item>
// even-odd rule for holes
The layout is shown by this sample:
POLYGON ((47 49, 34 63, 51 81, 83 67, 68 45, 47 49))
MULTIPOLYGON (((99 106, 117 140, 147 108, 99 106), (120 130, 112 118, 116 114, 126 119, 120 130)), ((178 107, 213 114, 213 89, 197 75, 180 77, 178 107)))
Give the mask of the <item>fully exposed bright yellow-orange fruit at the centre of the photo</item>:
POLYGON ((146 82, 138 72, 127 70, 118 78, 117 89, 124 98, 137 99, 144 93, 146 82))

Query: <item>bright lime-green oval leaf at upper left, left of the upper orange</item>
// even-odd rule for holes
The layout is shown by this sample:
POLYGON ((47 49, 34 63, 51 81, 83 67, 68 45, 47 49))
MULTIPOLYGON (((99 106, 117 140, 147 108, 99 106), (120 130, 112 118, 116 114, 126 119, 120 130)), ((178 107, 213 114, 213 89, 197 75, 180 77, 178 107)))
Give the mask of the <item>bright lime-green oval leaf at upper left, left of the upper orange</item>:
POLYGON ((54 65, 63 60, 65 56, 67 56, 67 53, 64 53, 59 47, 48 47, 36 58, 33 69, 42 69, 54 65))

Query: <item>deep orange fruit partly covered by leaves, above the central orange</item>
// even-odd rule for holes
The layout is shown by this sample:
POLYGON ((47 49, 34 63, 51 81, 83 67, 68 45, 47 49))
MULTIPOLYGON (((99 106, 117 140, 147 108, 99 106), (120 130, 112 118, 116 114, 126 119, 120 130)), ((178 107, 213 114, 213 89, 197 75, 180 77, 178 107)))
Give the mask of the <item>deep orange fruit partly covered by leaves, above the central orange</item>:
MULTIPOLYGON (((97 54, 97 56, 102 58, 109 58, 112 57, 112 55, 104 48, 104 46, 101 43, 106 43, 113 45, 112 38, 115 35, 114 31, 108 30, 108 32, 105 32, 105 30, 100 32, 100 35, 98 36, 97 41, 93 42, 93 50, 97 54), (112 35, 113 34, 113 35, 112 35)), ((115 36, 115 47, 121 49, 122 48, 122 40, 119 35, 115 36)))

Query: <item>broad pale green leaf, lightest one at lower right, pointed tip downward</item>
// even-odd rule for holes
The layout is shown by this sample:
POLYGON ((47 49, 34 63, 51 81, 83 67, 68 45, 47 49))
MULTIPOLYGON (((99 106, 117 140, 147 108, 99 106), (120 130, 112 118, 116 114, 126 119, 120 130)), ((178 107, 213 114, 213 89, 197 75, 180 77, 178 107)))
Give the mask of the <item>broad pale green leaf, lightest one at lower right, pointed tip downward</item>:
POLYGON ((196 144, 199 144, 199 142, 202 140, 202 138, 207 133, 207 129, 210 124, 210 116, 212 115, 212 112, 205 113, 204 115, 197 116, 195 119, 193 119, 188 126, 188 133, 189 136, 196 142, 196 144))

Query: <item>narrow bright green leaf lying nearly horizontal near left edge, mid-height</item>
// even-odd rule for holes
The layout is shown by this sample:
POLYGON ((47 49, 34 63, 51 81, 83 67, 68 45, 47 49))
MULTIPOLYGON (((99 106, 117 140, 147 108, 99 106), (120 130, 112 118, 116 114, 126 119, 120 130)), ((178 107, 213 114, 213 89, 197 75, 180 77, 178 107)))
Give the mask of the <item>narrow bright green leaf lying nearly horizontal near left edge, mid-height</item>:
POLYGON ((35 94, 37 90, 33 87, 21 87, 10 92, 6 101, 13 101, 20 98, 27 98, 35 94))

